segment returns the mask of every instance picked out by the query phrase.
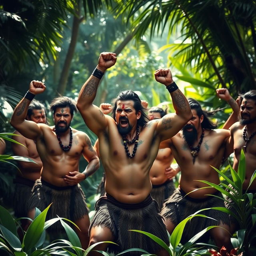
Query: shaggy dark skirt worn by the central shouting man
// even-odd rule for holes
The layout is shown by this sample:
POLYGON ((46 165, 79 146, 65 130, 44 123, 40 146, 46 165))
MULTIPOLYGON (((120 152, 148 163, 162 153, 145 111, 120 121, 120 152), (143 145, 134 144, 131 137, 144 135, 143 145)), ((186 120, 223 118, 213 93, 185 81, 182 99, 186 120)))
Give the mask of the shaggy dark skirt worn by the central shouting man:
MULTIPOLYGON (((96 213, 90 224, 92 227, 103 225, 109 228, 115 238, 116 244, 109 245, 109 252, 122 252, 130 248, 141 248, 150 253, 162 250, 154 240, 144 234, 128 230, 143 230, 162 239, 168 246, 169 240, 166 226, 155 200, 149 195, 138 204, 123 204, 112 196, 106 194, 98 199, 95 205, 96 213)), ((126 255, 138 256, 141 252, 131 252, 126 255)))

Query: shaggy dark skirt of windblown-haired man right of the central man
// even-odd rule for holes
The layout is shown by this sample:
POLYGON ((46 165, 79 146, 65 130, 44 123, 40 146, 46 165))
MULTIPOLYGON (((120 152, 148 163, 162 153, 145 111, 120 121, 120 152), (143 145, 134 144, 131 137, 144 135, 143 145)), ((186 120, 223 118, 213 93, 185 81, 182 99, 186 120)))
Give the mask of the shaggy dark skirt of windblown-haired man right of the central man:
MULTIPOLYGON (((165 219, 170 219, 175 225, 179 224, 186 217, 194 214, 198 210, 210 207, 225 207, 224 200, 215 197, 222 197, 220 192, 216 192, 214 194, 215 196, 208 196, 207 198, 202 199, 195 199, 185 195, 186 193, 183 190, 177 188, 172 196, 164 202, 161 215, 165 219)), ((218 210, 205 210, 199 214, 204 214, 210 218, 214 218, 215 220, 204 217, 192 218, 192 220, 190 220, 190 222, 185 226, 182 243, 188 242, 190 238, 208 226, 219 226, 220 221, 224 224, 230 225, 229 216, 224 212, 218 210)), ((209 234, 206 234, 202 239, 208 240, 208 238, 209 234)))

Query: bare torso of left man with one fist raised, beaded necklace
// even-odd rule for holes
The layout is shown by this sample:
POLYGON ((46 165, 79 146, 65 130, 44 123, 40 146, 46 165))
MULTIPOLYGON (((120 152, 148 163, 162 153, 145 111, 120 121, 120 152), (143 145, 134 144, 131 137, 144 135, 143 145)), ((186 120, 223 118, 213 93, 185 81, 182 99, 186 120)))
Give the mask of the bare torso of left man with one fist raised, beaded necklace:
MULTIPOLYGON (((54 126, 41 125, 42 136, 37 138, 36 147, 43 163, 41 177, 55 186, 67 186, 64 176, 79 171, 79 159, 84 147, 80 132, 72 129, 71 149, 64 152, 54 132, 54 126)), ((69 144, 69 136, 62 138, 64 146, 69 144)))

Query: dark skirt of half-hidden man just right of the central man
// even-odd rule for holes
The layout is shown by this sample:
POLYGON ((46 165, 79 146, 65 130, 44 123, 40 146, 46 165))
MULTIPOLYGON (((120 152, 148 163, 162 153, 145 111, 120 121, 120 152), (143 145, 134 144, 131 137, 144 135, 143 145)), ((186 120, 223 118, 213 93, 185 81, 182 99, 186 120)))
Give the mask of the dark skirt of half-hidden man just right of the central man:
POLYGON ((173 180, 167 180, 160 185, 152 185, 152 190, 150 192, 152 198, 158 202, 160 211, 162 210, 164 200, 169 198, 175 190, 173 180))

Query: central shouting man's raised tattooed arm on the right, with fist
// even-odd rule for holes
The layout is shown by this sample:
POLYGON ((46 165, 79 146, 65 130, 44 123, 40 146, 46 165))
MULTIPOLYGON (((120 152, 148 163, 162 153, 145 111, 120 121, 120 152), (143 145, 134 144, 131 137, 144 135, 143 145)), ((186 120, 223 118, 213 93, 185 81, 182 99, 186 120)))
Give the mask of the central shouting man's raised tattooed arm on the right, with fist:
MULTIPOLYGON (((155 73, 156 81, 168 86, 173 83, 169 69, 160 69, 155 73)), ((188 100, 179 90, 170 93, 175 114, 167 114, 158 122, 156 131, 161 140, 173 137, 193 116, 188 100)))

